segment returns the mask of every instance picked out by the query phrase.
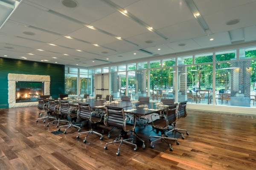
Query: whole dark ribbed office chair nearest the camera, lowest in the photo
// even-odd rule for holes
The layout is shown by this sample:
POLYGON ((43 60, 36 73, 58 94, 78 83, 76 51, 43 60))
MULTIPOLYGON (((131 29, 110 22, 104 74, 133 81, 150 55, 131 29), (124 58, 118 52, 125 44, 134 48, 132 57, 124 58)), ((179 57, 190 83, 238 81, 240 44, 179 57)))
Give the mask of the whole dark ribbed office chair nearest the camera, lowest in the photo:
POLYGON ((120 155, 120 147, 121 147, 121 144, 123 143, 133 145, 134 150, 136 151, 137 145, 133 143, 134 140, 132 138, 124 139, 125 133, 134 132, 135 124, 134 125, 126 124, 126 120, 128 118, 125 118, 125 113, 123 108, 114 107, 114 106, 106 106, 106 108, 107 109, 106 109, 106 114, 104 118, 104 124, 106 126, 114 126, 117 128, 121 128, 122 132, 121 132, 121 139, 116 138, 115 141, 106 143, 106 146, 104 147, 104 149, 105 150, 108 149, 108 144, 120 142, 117 153, 116 153, 117 156, 120 155), (131 142, 128 142, 128 140, 131 140, 131 142))

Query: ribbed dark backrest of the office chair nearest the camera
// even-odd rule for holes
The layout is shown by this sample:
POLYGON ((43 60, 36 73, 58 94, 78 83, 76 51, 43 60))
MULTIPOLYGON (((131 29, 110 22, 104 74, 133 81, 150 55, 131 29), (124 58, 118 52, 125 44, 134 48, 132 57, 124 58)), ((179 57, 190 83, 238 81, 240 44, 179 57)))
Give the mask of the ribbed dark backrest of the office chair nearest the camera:
POLYGON ((124 109, 115 106, 106 106, 106 108, 104 124, 106 126, 123 127, 125 119, 124 109))

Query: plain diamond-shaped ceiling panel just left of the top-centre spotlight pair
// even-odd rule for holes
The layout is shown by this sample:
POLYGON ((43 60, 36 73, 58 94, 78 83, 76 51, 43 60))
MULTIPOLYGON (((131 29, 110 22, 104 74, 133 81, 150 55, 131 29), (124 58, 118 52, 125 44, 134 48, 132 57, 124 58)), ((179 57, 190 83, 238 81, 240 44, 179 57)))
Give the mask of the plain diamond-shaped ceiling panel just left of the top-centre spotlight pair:
POLYGON ((132 37, 134 35, 148 32, 147 28, 140 26, 138 23, 135 23, 128 17, 125 17, 120 12, 108 15, 91 25, 122 38, 132 37))

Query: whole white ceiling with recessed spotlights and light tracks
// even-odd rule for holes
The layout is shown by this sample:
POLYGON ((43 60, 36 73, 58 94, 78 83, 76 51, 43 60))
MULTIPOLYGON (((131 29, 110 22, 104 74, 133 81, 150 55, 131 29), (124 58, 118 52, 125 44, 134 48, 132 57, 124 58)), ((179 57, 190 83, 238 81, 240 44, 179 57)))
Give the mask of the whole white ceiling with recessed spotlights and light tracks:
POLYGON ((0 0, 20 2, 14 11, 0 3, 0 19, 6 20, 4 11, 10 14, 0 25, 0 57, 92 67, 256 41, 256 0, 191 0, 207 31, 189 0, 73 0, 74 8, 63 1, 71 0, 0 0), (236 19, 239 23, 227 25, 236 19))

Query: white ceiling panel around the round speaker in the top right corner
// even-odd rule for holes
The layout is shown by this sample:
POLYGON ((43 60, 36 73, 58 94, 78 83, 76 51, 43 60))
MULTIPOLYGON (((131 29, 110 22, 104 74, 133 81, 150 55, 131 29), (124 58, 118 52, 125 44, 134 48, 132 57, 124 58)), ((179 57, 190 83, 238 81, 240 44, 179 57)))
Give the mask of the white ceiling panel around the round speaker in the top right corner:
POLYGON ((229 8, 225 11, 204 16, 204 19, 213 33, 253 26, 256 23, 255 6, 256 2, 229 8), (218 18, 218 20, 216 20, 216 18, 218 18), (228 21, 235 19, 239 19, 240 22, 231 26, 226 24, 228 21))

